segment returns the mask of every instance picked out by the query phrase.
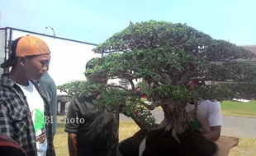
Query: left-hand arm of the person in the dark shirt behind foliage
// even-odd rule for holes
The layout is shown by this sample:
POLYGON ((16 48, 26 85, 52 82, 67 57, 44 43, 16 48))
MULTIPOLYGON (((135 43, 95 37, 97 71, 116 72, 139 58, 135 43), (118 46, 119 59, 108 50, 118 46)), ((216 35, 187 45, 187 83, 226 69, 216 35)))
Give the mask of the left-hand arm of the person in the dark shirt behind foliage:
POLYGON ((68 135, 68 145, 69 145, 69 156, 76 156, 77 155, 77 132, 79 123, 70 122, 72 118, 78 117, 79 109, 78 103, 76 102, 77 99, 73 98, 69 104, 69 112, 68 116, 65 119, 65 129, 64 131, 67 132, 68 135))

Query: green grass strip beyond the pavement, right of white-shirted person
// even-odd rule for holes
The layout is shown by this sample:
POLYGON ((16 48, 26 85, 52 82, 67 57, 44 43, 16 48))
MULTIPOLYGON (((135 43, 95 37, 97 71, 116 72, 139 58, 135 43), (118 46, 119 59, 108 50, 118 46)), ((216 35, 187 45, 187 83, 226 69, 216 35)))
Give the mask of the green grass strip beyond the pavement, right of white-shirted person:
POLYGON ((256 101, 252 100, 249 103, 224 101, 221 103, 221 111, 225 116, 256 118, 256 101))

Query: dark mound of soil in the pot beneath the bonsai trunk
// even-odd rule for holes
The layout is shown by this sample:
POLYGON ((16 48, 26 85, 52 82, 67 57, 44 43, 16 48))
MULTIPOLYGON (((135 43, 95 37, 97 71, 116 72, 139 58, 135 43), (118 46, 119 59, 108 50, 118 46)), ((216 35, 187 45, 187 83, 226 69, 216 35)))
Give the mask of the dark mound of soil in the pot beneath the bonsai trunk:
POLYGON ((213 141, 193 131, 178 135, 181 141, 181 144, 178 144, 170 132, 140 130, 119 146, 121 154, 138 156, 140 142, 146 135, 146 149, 143 156, 213 156, 218 151, 218 146, 213 141))

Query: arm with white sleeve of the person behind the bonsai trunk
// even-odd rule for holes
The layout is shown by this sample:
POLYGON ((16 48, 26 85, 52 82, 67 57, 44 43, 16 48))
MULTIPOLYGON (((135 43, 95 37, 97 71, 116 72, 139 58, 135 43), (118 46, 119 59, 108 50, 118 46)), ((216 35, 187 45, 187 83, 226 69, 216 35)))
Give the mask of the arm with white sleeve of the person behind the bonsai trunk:
POLYGON ((211 104, 208 120, 211 131, 207 132, 205 136, 210 140, 216 141, 220 138, 220 131, 222 125, 220 102, 211 104))

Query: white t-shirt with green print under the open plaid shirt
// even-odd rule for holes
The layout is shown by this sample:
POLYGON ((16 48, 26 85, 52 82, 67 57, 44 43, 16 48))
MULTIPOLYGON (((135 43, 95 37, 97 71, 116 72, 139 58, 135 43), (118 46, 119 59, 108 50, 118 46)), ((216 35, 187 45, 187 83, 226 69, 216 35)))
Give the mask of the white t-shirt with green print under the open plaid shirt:
MULTIPOLYGON (((19 84, 17 84, 19 85, 19 84)), ((45 156, 47 150, 47 138, 45 132, 45 104, 35 85, 29 81, 29 85, 19 85, 26 96, 26 101, 31 111, 31 117, 36 131, 37 155, 45 156)))

